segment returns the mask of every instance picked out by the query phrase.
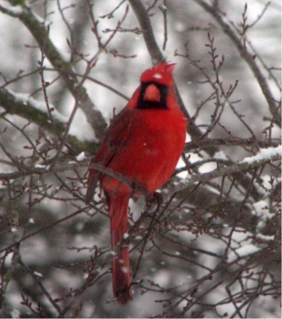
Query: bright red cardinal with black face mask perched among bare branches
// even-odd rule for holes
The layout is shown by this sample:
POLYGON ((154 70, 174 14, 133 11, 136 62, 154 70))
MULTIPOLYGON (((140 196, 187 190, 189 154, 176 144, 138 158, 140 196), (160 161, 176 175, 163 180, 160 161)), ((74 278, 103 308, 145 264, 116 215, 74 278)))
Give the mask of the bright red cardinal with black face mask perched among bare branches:
MULTIPOLYGON (((126 107, 109 125, 92 163, 118 172, 154 194, 175 169, 185 145, 187 120, 173 89, 173 64, 160 63, 141 75, 141 85, 126 107)), ((90 203, 100 182, 109 207, 112 248, 128 232, 128 184, 90 169, 85 202, 90 203)), ((136 193, 136 192, 135 192, 136 193)), ((112 259, 114 297, 126 304, 132 299, 129 247, 121 247, 112 259)))

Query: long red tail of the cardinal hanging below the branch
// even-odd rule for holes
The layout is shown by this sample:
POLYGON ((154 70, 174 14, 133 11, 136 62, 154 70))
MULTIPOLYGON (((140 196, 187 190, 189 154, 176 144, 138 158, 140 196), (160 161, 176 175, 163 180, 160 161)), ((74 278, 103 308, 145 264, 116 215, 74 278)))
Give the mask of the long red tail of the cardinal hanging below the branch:
MULTIPOLYGON (((111 216, 112 248, 114 248, 128 232, 129 195, 111 194, 107 196, 107 203, 111 216)), ((123 305, 131 301, 128 246, 120 247, 116 257, 112 259, 112 281, 114 298, 117 298, 117 301, 123 305)))

